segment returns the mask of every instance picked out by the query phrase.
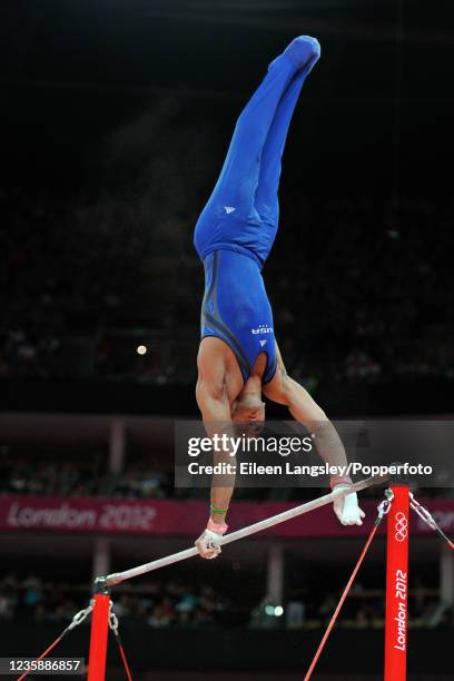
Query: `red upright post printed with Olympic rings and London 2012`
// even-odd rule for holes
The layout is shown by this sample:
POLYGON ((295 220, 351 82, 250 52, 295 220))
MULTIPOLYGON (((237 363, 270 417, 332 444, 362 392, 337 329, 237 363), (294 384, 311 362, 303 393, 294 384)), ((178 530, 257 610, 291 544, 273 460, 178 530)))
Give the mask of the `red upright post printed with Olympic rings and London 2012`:
POLYGON ((409 488, 392 485, 387 516, 386 626, 384 681, 406 680, 408 618, 409 488))

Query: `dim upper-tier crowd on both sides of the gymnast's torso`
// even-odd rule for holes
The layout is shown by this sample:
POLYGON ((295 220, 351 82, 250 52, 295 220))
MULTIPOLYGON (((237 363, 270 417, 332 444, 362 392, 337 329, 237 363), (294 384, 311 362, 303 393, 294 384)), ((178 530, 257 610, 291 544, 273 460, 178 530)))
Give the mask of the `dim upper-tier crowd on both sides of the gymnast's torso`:
MULTIPOLYGON (((203 272, 190 209, 156 224, 144 198, 0 193, 0 376, 193 381, 203 272)), ((453 217, 447 200, 287 186, 264 272, 292 373, 451 377, 453 217)))

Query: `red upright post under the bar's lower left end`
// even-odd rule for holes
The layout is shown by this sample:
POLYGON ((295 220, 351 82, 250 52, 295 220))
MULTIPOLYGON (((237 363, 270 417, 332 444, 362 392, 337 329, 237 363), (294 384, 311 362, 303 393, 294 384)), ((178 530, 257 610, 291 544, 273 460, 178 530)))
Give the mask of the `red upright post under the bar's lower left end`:
MULTIPOLYGON (((102 578, 101 578, 102 579, 102 578)), ((105 584, 99 584, 93 595, 91 614, 90 653, 88 658, 88 681, 105 681, 107 659, 107 635, 109 633, 110 595, 105 584)))

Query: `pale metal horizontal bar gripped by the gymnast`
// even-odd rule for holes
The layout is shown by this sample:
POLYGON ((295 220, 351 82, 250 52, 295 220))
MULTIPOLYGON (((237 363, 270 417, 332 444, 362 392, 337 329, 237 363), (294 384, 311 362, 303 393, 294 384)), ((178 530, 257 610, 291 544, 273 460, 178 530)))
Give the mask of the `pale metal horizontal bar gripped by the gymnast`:
MULTIPOLYGON (((367 487, 372 487, 373 485, 384 483, 387 480, 388 476, 375 475, 373 477, 362 480, 346 490, 334 490, 333 492, 329 492, 329 494, 319 496, 314 501, 300 504, 299 506, 295 506, 294 509, 288 509, 288 511, 284 511, 283 513, 278 513, 277 515, 272 515, 272 517, 259 521, 258 523, 254 523, 253 525, 248 525, 247 527, 243 527, 241 530, 237 530, 236 532, 226 534, 221 537, 219 544, 224 546, 225 544, 229 544, 230 542, 236 542, 239 539, 244 539, 245 536, 249 536, 250 534, 255 534, 256 532, 261 532, 263 530, 267 530, 268 527, 273 527, 274 525, 284 523, 285 521, 292 520, 293 517, 297 517, 298 515, 303 515, 304 513, 309 513, 309 511, 315 511, 315 509, 320 509, 322 506, 329 504, 339 496, 346 496, 347 494, 352 494, 353 492, 361 492, 362 490, 366 490, 367 487)), ((178 563, 179 561, 186 561, 186 559, 193 557, 195 555, 198 555, 198 551, 196 546, 193 546, 191 549, 186 549, 185 551, 172 553, 171 555, 158 559, 157 561, 151 561, 150 563, 138 565, 138 568, 131 568, 130 570, 125 570, 124 572, 114 572, 112 574, 107 575, 106 584, 108 586, 114 586, 114 584, 119 584, 125 580, 130 580, 135 576, 139 576, 140 574, 152 572, 154 570, 159 570, 160 568, 171 565, 172 563, 178 563)))

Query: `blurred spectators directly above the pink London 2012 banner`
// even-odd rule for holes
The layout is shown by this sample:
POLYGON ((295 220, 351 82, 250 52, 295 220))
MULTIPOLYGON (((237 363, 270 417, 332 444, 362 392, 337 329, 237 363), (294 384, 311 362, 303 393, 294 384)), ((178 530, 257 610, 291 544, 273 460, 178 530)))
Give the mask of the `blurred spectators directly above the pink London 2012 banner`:
MULTIPOLYGON (((45 450, 51 450, 45 447, 45 450)), ((41 451, 39 447, 14 447, 0 444, 0 496, 33 495, 59 497, 108 497, 108 499, 193 499, 206 500, 207 490, 200 487, 176 487, 172 454, 164 451, 136 452, 127 457, 121 472, 108 470, 107 455, 102 448, 82 447, 41 451)), ((416 484, 412 485, 418 494, 416 484)), ((315 490, 295 481, 292 487, 243 487, 235 490, 236 501, 304 501, 313 499, 315 490)), ((425 497, 452 499, 452 487, 424 487, 425 497)), ((375 490, 365 490, 363 496, 375 499, 375 490)))

